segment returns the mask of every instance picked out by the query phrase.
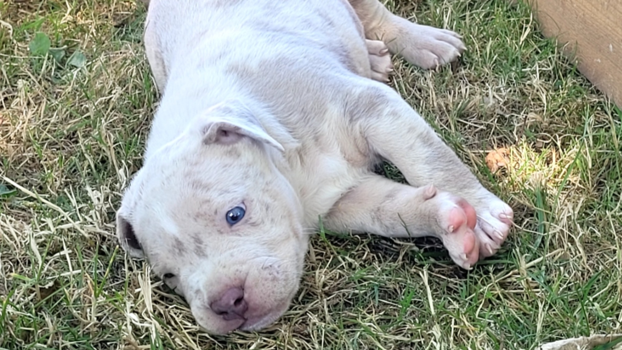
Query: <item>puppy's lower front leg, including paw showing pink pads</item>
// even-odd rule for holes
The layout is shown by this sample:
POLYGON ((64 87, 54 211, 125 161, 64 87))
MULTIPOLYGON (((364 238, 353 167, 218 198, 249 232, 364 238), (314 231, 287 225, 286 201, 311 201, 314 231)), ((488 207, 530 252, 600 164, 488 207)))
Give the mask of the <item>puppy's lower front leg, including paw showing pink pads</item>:
POLYGON ((475 209, 434 186, 412 187, 371 175, 346 193, 324 218, 330 230, 385 237, 438 237, 453 261, 470 268, 479 257, 475 209))

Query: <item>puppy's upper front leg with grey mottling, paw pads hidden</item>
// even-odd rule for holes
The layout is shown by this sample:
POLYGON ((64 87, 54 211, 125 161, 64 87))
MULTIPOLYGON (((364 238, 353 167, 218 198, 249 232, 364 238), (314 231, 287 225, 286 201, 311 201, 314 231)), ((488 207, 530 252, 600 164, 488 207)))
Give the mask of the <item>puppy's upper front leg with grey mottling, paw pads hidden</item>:
POLYGON ((481 186, 425 120, 389 87, 374 83, 360 93, 351 118, 369 149, 399 168, 411 186, 433 184, 475 207, 480 257, 493 255, 506 239, 513 210, 481 186))

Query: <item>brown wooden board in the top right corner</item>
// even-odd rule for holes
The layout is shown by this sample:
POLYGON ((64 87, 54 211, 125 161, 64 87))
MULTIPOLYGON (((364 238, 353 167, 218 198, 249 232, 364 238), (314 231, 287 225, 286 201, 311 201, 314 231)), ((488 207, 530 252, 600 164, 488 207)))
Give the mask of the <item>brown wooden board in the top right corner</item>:
POLYGON ((622 0, 528 0, 590 82, 622 108, 622 0))

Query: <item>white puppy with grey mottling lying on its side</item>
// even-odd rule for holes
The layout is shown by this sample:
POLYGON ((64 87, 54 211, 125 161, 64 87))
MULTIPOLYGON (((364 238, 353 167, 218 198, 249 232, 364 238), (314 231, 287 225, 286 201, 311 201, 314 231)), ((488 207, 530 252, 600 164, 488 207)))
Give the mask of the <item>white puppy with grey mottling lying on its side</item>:
POLYGON ((210 333, 284 313, 320 219, 434 235, 463 268, 506 239, 512 209, 376 81, 384 44, 433 68, 465 49, 457 34, 377 0, 152 0, 144 39, 163 95, 117 232, 210 333), (374 174, 382 159, 410 186, 374 174))

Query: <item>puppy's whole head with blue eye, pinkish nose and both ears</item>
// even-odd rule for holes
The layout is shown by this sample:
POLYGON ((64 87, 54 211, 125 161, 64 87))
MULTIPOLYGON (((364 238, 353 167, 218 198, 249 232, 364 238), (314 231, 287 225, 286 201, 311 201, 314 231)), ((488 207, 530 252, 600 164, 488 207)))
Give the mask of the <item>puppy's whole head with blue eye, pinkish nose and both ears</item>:
POLYGON ((298 289, 307 235, 274 148, 239 103, 211 108, 152 154, 117 214, 121 245, 210 333, 267 326, 298 289))

